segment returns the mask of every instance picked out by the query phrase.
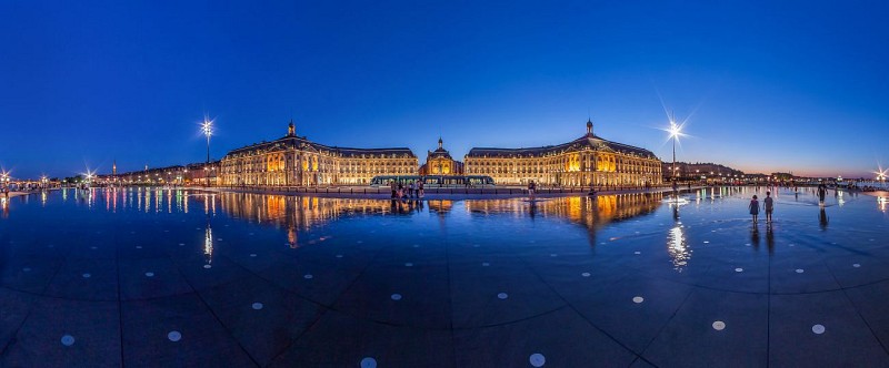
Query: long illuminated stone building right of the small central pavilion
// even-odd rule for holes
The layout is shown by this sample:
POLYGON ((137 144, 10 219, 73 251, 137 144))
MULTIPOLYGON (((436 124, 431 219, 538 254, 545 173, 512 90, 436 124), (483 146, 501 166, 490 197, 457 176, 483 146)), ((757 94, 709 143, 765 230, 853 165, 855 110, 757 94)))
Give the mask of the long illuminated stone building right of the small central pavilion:
POLYGON ((488 175, 498 185, 659 185, 661 162, 648 150, 592 133, 559 145, 531 149, 475 147, 463 160, 467 175, 488 175))

